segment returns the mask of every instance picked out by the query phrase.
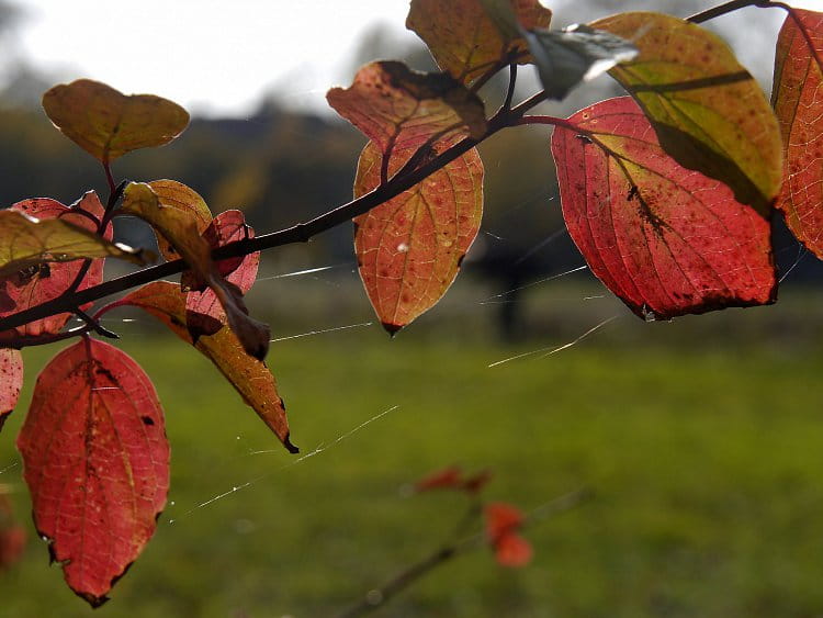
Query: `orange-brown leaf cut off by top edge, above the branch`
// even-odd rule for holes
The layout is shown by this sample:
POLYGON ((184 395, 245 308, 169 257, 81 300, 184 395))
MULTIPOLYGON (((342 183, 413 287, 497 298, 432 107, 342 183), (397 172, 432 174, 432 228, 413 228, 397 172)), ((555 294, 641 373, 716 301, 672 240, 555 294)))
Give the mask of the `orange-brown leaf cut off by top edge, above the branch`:
MULTIPOLYGON (((549 27, 552 12, 538 0, 509 4, 522 27, 549 27)), ((505 9, 500 0, 412 0, 406 27, 426 42, 441 69, 470 83, 508 65, 510 58, 530 61, 526 42, 515 35, 505 9)))

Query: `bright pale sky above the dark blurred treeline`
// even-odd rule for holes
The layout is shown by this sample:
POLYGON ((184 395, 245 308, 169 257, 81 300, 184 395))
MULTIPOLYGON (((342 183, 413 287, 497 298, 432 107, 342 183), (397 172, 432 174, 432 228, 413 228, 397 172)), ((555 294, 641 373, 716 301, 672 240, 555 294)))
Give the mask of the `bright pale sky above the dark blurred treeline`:
MULTIPOLYGON (((585 0, 580 0, 585 7, 585 0)), ((246 115, 263 92, 275 89, 297 108, 326 109, 331 86, 348 86, 359 38, 376 22, 393 27, 398 46, 408 0, 12 0, 25 16, 13 42, 14 57, 60 81, 89 77, 119 90, 166 97, 194 113, 246 115)), ((561 4, 543 0, 546 5, 561 4)), ((707 1, 706 7, 718 2, 707 1)), ((823 0, 797 0, 823 10, 823 0)), ((616 2, 630 10, 632 2, 616 2)), ((555 11, 554 27, 568 23, 575 2, 555 11)), ((774 32, 778 10, 746 9, 774 32)), ((746 40, 737 15, 717 20, 740 34, 737 54, 768 76, 771 43, 746 40), (759 54, 759 55, 757 55, 759 54)), ((758 37, 759 38, 759 37, 758 37)), ((774 41, 774 38, 771 38, 774 41)), ((7 54, 8 55, 8 54, 7 54)), ((747 65, 752 69, 752 65, 747 65)))

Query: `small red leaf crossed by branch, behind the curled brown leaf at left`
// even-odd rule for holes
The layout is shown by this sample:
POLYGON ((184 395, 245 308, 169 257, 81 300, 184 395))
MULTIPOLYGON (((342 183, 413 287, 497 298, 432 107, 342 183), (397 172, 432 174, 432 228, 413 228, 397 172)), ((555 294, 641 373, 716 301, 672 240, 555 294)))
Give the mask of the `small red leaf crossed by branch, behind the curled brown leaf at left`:
MULTIPOLYGON (((246 218, 240 211, 225 211, 218 214, 203 232, 203 238, 214 249, 246 238, 253 238, 255 231, 246 225, 246 218)), ((228 258, 215 262, 217 271, 239 289, 240 293, 248 292, 257 280, 257 269, 260 265, 260 252, 245 257, 228 258)), ((202 335, 214 335, 226 323, 226 312, 223 311, 214 290, 205 282, 198 281, 192 271, 183 273, 183 288, 194 291, 185 295, 185 324, 194 341, 202 335)))

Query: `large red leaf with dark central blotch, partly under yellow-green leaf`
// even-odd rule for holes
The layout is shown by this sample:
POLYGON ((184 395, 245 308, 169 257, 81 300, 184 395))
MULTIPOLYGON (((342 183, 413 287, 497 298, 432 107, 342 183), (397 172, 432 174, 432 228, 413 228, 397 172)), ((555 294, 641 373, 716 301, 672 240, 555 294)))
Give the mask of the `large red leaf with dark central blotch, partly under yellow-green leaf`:
POLYGON ((721 182, 679 166, 630 98, 552 136, 568 232, 591 271, 639 316, 774 302, 770 224, 721 182))

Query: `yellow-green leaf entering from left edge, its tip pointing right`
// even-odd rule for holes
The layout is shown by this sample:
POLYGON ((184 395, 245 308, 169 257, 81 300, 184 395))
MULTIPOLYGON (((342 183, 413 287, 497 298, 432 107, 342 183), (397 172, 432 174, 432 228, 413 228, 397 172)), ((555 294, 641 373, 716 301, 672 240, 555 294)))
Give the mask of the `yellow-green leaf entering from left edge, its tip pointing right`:
POLYGON ((146 261, 143 251, 111 243, 67 221, 0 211, 0 276, 44 262, 105 257, 146 261))

